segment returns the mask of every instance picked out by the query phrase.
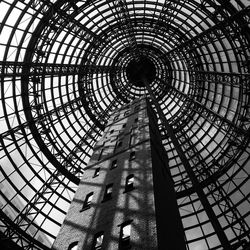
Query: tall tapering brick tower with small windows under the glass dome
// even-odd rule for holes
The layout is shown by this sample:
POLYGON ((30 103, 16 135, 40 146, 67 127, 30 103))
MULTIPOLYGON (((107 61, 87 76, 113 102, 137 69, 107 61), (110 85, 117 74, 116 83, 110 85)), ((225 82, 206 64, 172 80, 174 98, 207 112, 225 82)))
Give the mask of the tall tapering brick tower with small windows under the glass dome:
POLYGON ((186 249, 167 164, 146 99, 114 112, 53 249, 186 249))

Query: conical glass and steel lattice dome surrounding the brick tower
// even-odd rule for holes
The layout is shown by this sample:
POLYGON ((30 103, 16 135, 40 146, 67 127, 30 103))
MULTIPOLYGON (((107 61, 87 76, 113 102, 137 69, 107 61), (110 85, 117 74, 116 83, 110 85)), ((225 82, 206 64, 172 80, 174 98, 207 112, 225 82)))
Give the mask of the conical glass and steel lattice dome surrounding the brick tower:
POLYGON ((145 96, 191 167, 192 178, 159 119, 187 249, 224 249, 223 234, 248 249, 248 5, 0 1, 1 237, 48 249, 110 114, 145 96))

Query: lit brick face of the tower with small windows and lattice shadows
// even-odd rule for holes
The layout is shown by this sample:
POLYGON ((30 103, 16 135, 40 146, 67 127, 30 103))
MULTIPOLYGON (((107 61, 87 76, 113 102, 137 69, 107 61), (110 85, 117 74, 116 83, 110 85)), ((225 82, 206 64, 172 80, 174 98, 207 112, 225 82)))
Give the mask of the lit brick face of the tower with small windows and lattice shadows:
POLYGON ((75 241, 78 249, 93 249, 95 234, 103 232, 102 249, 117 250, 121 225, 127 221, 131 223, 131 249, 158 249, 152 173, 152 155, 157 156, 151 152, 147 112, 146 101, 142 99, 112 115, 95 146, 53 249, 67 250, 75 241), (138 104, 140 108, 135 111, 138 104), (119 148, 118 141, 122 141, 119 148), (130 160, 132 151, 135 159, 130 160), (110 169, 114 160, 117 167, 110 169), (97 168, 99 175, 93 177, 97 168), (126 178, 131 174, 134 188, 125 192, 126 178), (109 184, 113 184, 112 198, 104 201, 109 184), (94 193, 91 204, 83 209, 90 192, 94 193))

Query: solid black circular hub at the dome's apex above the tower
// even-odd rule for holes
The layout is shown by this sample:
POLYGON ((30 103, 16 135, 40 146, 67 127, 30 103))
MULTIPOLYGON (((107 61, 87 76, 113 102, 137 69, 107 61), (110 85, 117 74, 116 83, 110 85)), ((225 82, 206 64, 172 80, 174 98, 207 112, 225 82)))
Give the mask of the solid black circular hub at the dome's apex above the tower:
POLYGON ((156 70, 153 62, 147 57, 141 57, 139 62, 132 60, 126 68, 129 82, 137 87, 144 87, 144 82, 149 84, 154 81, 156 70))

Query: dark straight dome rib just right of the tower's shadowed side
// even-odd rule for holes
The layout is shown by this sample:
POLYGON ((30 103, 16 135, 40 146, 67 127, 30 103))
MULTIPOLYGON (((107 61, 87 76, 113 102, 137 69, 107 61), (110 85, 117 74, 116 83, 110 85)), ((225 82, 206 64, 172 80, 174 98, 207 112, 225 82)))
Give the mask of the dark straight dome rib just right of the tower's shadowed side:
POLYGON ((196 193, 201 201, 201 204, 203 205, 204 210, 206 211, 206 213, 207 213, 207 215, 208 215, 208 217, 209 217, 209 219, 214 227, 214 230, 217 233, 217 236, 218 236, 222 246, 225 249, 230 250, 231 249, 230 242, 228 241, 227 236, 226 236, 225 232, 223 231, 223 228, 221 227, 221 225, 216 217, 216 214, 214 213, 199 181, 197 180, 197 178, 192 170, 192 167, 191 167, 184 151, 182 150, 181 145, 178 142, 178 139, 176 138, 176 136, 174 134, 173 128, 168 123, 168 121, 167 121, 164 113, 162 112, 160 105, 158 104, 158 102, 155 98, 155 95, 154 95, 153 91, 151 90, 150 85, 145 77, 143 78, 143 82, 144 82, 145 87, 147 88, 148 93, 149 93, 149 95, 150 95, 150 97, 155 105, 155 108, 158 112, 159 118, 160 118, 164 128, 168 132, 168 135, 171 138, 172 143, 174 144, 174 147, 175 147, 175 149, 176 149, 176 151, 181 159, 181 162, 182 162, 185 170, 187 171, 187 174, 192 182, 194 190, 196 191, 196 193))

